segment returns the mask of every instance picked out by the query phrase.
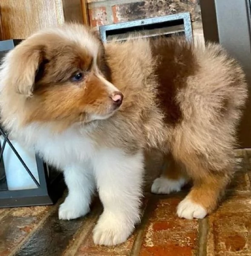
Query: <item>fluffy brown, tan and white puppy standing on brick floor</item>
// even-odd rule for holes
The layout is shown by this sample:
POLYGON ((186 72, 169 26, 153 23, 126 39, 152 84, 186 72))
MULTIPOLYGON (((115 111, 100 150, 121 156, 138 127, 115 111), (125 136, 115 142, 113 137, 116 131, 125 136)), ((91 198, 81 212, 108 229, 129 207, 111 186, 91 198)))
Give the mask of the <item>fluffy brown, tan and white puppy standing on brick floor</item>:
POLYGON ((145 150, 165 164, 152 192, 193 187, 181 218, 216 208, 234 172, 236 129, 247 97, 239 64, 219 45, 184 38, 102 44, 78 24, 37 32, 3 59, 1 121, 12 139, 63 170, 59 218, 104 206, 95 244, 126 241, 140 220, 145 150))

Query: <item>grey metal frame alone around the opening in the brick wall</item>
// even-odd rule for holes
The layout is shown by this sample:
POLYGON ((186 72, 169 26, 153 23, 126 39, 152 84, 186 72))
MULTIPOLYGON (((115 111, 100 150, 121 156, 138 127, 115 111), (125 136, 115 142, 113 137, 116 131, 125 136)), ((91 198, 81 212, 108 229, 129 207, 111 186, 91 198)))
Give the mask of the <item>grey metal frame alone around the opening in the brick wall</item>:
POLYGON ((172 21, 181 21, 182 24, 184 24, 184 32, 185 32, 186 38, 191 41, 193 40, 192 24, 191 24, 191 18, 190 18, 189 12, 99 26, 99 34, 100 34, 101 40, 104 42, 107 42, 107 32, 113 31, 115 35, 116 31, 118 30, 121 31, 129 28, 135 28, 135 31, 137 31, 139 28, 143 30, 144 27, 146 27, 147 25, 153 25, 153 24, 159 25, 162 23, 172 22, 172 21))

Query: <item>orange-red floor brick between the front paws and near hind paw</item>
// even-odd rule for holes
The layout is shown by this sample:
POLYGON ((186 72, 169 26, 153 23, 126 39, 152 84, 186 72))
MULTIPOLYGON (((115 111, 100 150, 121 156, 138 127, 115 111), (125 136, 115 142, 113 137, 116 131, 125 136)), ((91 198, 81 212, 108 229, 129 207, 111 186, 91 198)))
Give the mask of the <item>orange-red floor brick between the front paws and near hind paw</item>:
POLYGON ((198 250, 198 221, 180 219, 182 197, 156 197, 141 245, 140 256, 193 256, 198 250))

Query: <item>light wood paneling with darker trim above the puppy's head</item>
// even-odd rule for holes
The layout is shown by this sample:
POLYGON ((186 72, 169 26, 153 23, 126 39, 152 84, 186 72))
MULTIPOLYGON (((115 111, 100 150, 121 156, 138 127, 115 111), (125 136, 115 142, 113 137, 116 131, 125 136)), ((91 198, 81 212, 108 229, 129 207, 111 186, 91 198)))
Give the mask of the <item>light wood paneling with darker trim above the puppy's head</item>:
POLYGON ((85 0, 0 0, 0 39, 24 39, 64 21, 87 23, 85 0))

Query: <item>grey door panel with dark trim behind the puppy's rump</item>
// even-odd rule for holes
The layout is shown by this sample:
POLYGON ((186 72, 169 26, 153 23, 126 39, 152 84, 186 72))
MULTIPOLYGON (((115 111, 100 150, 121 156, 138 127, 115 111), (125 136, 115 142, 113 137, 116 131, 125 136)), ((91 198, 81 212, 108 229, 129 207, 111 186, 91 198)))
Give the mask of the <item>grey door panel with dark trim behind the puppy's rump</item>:
MULTIPOLYGON (((222 44, 236 58, 251 86, 251 1, 200 0, 206 41, 222 44)), ((249 97, 251 91, 249 90, 249 97)), ((247 103, 239 128, 239 144, 251 147, 251 101, 247 103)))

